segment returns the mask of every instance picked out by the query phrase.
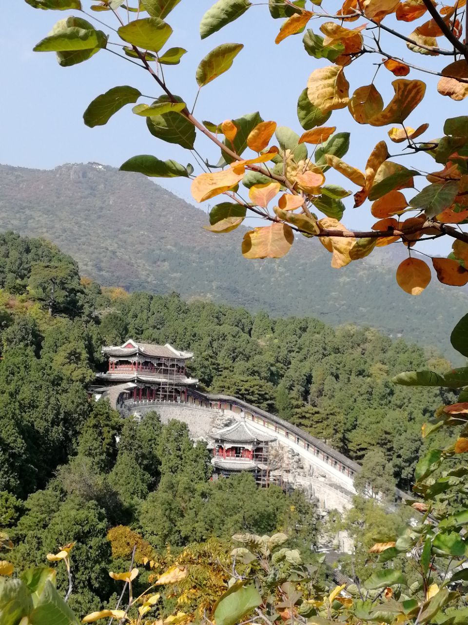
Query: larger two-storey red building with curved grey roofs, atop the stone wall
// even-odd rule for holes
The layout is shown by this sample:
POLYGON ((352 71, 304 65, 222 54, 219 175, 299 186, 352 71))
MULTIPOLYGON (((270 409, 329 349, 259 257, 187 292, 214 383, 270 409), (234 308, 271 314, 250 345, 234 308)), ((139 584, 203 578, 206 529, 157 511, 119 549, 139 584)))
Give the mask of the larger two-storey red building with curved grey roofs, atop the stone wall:
MULTIPOLYGON (((175 349, 168 343, 155 345, 127 339, 123 345, 102 347, 102 353, 109 357, 105 373, 98 373, 97 379, 105 382, 100 387, 102 396, 119 386, 119 398, 134 401, 187 401, 187 388, 198 384, 198 380, 187 377, 187 361, 191 352, 175 349)), ((114 394, 115 394, 114 392, 114 394)))

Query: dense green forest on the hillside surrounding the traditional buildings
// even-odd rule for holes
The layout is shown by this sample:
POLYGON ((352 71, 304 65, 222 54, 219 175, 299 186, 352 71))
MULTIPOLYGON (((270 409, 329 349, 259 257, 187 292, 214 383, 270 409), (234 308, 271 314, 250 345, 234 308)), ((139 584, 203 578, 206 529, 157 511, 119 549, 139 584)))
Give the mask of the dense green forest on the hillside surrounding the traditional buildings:
MULTIPOLYGON (((436 389, 389 382, 428 362, 446 367, 435 352, 373 329, 101 288, 39 239, 0 236, 0 287, 0 530, 20 567, 78 542, 71 604, 80 613, 109 599, 107 571, 128 564, 129 532, 160 559, 167 545, 202 549, 213 539, 219 547, 236 531, 281 529, 306 553, 318 536, 316 508, 300 491, 259 490, 245 475, 211 482, 206 446, 193 446, 185 424, 163 426, 155 413, 122 421, 107 402, 90 401, 103 343, 131 336, 190 349, 205 388, 277 412, 402 487, 421 451, 421 424, 441 403, 436 389)), ((344 519, 350 529, 376 515, 402 522, 376 502, 356 510, 344 519)), ((349 571, 365 567, 353 562, 349 571)))

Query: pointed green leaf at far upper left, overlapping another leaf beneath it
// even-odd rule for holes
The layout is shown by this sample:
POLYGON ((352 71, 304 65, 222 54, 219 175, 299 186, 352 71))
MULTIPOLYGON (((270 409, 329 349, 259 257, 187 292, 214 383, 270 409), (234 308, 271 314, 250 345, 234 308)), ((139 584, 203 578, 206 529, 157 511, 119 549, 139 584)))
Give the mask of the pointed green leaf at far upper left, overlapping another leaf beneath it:
POLYGON ((73 52, 105 47, 107 37, 80 17, 59 20, 47 37, 34 46, 34 52, 73 52))

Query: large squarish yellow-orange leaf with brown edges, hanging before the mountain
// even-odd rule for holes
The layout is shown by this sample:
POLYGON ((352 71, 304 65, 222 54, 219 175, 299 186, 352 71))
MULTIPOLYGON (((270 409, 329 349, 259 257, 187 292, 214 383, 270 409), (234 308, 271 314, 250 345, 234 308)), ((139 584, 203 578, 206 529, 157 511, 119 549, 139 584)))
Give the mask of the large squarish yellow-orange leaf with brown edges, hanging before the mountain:
POLYGON ((246 232, 242 241, 242 254, 246 258, 281 258, 294 242, 288 224, 272 224, 246 232))

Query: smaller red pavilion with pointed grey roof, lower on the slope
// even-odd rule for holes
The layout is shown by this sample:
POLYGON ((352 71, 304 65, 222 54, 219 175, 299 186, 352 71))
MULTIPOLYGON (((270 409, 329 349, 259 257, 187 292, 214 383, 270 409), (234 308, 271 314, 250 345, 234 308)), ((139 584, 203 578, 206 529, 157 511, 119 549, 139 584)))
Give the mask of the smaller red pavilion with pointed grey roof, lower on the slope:
POLYGON ((268 451, 274 436, 263 434, 246 423, 236 421, 211 435, 213 438, 213 479, 228 477, 232 473, 250 471, 259 484, 268 479, 268 451))

